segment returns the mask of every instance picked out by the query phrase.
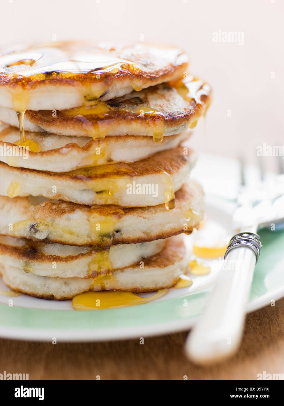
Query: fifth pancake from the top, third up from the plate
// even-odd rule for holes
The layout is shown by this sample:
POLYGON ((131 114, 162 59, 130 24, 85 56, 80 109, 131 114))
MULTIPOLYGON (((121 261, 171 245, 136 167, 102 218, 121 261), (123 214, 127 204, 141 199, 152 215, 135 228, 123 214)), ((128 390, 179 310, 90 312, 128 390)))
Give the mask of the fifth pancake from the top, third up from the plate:
POLYGON ((164 204, 122 209, 40 200, 0 196, 0 234, 78 246, 146 242, 189 234, 204 211, 203 190, 193 180, 175 193, 172 210, 164 204))

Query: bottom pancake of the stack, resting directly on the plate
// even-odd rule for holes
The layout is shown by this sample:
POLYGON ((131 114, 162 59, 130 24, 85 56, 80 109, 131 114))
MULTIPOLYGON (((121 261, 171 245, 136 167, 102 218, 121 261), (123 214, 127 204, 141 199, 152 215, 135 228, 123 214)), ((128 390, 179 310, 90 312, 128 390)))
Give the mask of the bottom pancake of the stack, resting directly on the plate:
POLYGON ((141 264, 116 269, 111 276, 96 279, 56 278, 26 273, 21 259, 12 249, 0 244, 0 273, 4 283, 11 289, 45 299, 71 299, 89 290, 126 290, 129 292, 152 292, 175 285, 185 272, 188 255, 183 238, 169 238, 164 249, 141 264), (103 279, 103 284, 101 280, 103 279))

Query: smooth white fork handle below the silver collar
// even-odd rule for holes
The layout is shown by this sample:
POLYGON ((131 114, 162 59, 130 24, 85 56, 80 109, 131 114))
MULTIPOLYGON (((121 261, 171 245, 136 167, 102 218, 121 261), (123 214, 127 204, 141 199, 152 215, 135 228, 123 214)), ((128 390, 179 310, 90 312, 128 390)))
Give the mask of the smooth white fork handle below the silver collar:
POLYGON ((251 248, 228 253, 205 311, 186 339, 186 354, 195 363, 222 361, 239 347, 255 263, 251 248))

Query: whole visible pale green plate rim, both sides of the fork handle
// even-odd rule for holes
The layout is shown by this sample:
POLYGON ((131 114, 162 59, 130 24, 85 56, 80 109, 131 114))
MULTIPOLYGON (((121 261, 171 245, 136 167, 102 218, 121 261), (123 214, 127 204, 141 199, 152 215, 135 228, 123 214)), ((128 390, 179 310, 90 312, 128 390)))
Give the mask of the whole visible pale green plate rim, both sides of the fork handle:
MULTIPOLYGON (((283 260, 284 231, 263 230, 260 235, 263 248, 254 272, 250 300, 270 292, 265 286, 265 278, 273 270, 273 264, 283 260)), ((277 287, 280 285, 275 289, 277 287)), ((32 309, 0 304, 0 330, 1 327, 57 331, 91 329, 95 333, 100 329, 178 322, 201 313, 209 289, 171 299, 165 296, 165 300, 138 306, 97 311, 32 309)))

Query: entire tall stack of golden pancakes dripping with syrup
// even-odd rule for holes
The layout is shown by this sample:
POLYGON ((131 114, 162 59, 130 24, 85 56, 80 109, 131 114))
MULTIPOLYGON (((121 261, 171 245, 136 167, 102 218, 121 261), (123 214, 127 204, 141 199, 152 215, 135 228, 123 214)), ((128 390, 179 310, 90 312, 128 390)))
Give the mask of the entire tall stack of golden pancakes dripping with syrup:
POLYGON ((68 299, 176 283, 188 263, 182 233, 203 215, 203 191, 189 180, 196 154, 184 143, 210 102, 187 66, 179 49, 144 43, 2 52, 6 285, 68 299))

